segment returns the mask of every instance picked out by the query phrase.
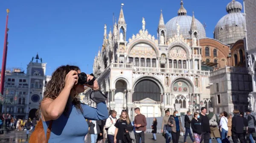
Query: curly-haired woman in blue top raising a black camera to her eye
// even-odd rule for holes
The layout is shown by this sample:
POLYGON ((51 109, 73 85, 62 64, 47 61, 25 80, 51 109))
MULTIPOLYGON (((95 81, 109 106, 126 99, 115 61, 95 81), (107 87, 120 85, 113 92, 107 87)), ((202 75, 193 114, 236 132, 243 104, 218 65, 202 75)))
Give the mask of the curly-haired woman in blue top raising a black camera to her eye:
MULTIPOLYGON (((81 71, 76 66, 58 67, 45 87, 44 98, 38 112, 41 112, 45 135, 49 124, 52 125, 48 143, 84 143, 84 137, 88 132, 85 119, 108 118, 105 97, 99 89, 98 82, 95 80, 93 85, 80 85, 79 73, 81 71), (92 88, 90 97, 96 101, 96 108, 80 102, 79 93, 84 92, 84 86, 92 88), (95 100, 95 97, 102 99, 95 100)), ((92 79, 93 76, 87 75, 87 81, 92 79)))

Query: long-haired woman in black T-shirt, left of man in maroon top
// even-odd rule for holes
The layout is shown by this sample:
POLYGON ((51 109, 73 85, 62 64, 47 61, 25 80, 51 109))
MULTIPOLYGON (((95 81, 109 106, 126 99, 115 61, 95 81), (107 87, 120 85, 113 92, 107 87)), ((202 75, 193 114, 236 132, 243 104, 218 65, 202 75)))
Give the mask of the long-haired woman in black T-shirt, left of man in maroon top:
MULTIPOLYGON (((115 124, 116 131, 114 135, 114 143, 124 143, 124 138, 130 138, 126 137, 129 136, 129 133, 128 131, 125 131, 125 127, 129 124, 131 125, 129 115, 125 110, 122 110, 120 118, 116 121, 115 124)), ((128 142, 131 143, 131 139, 128 142)))

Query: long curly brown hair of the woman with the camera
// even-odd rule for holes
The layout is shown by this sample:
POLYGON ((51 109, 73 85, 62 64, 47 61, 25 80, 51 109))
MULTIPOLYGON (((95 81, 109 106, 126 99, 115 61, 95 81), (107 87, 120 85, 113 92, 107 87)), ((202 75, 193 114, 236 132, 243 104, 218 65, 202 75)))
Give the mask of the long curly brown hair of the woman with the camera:
MULTIPOLYGON (((54 100, 58 97, 58 95, 61 93, 61 91, 64 89, 65 86, 65 78, 67 73, 70 72, 70 70, 80 70, 79 67, 73 66, 73 65, 62 65, 61 67, 58 67, 53 73, 52 77, 47 83, 45 90, 44 90, 44 98, 41 102, 43 102, 46 98, 50 98, 54 100)), ((64 114, 67 115, 67 112, 69 111, 70 104, 73 103, 73 105, 76 107, 77 110, 80 110, 83 112, 81 108, 81 101, 79 98, 78 93, 76 92, 76 85, 71 89, 70 91, 70 97, 67 101, 66 107, 64 109, 64 114)), ((40 115, 41 112, 41 103, 39 105, 37 116, 40 115)))

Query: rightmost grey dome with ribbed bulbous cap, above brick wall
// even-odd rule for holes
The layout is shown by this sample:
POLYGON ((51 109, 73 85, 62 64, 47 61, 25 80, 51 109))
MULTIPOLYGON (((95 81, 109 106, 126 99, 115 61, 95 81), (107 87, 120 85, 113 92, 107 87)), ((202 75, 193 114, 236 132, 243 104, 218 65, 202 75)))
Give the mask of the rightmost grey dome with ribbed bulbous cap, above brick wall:
POLYGON ((232 0, 227 4, 227 15, 222 17, 214 30, 214 38, 224 44, 233 44, 245 37, 244 15, 241 3, 232 0))

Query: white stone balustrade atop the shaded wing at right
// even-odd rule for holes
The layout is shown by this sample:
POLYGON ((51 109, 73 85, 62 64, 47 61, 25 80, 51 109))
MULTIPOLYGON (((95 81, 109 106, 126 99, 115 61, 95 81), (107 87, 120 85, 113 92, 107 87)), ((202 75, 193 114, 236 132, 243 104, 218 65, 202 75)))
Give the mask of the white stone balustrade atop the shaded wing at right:
POLYGON ((215 70, 210 73, 210 76, 216 76, 222 73, 248 73, 248 70, 246 67, 224 67, 219 70, 215 70))

